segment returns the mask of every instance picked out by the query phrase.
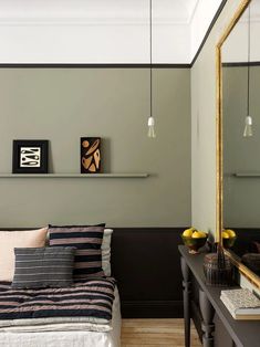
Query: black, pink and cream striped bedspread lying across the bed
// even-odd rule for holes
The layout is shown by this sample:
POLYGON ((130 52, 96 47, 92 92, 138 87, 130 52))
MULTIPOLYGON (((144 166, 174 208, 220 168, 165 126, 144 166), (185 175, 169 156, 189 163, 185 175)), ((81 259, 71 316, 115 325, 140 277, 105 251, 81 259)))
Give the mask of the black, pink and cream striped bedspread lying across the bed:
POLYGON ((115 280, 90 278, 70 287, 12 290, 0 283, 0 327, 50 323, 107 324, 115 280))

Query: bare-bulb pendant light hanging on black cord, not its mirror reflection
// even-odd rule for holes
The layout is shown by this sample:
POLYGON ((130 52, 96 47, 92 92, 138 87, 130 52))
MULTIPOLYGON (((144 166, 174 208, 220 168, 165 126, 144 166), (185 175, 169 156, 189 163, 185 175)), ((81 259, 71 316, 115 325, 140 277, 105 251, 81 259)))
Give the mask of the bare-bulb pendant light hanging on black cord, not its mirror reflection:
POLYGON ((148 118, 148 137, 155 138, 155 118, 153 116, 153 36, 152 36, 152 30, 153 30, 153 12, 152 12, 152 0, 149 0, 149 118, 148 118))

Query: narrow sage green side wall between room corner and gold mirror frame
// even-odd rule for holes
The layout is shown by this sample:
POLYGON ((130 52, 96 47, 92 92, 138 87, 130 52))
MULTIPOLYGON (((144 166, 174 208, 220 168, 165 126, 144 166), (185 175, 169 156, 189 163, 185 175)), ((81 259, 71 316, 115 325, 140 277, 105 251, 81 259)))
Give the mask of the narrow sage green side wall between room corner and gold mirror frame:
POLYGON ((227 1, 191 69, 193 224, 216 230, 216 44, 240 0, 227 1))

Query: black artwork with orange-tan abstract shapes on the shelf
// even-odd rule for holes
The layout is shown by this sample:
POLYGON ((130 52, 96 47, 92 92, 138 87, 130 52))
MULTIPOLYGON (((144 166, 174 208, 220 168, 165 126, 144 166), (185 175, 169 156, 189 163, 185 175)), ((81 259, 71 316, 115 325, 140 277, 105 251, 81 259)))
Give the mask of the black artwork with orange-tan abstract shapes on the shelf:
POLYGON ((101 138, 81 137, 81 174, 101 172, 101 138))

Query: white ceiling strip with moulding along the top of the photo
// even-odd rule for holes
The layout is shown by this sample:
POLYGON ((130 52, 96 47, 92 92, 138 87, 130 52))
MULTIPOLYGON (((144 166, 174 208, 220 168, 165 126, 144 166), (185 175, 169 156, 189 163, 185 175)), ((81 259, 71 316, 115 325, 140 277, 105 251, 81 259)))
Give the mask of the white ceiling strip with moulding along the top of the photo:
MULTIPOLYGON (((152 0, 159 21, 189 23, 198 0, 152 0)), ((0 20, 148 18, 149 0, 0 0, 0 20)))

